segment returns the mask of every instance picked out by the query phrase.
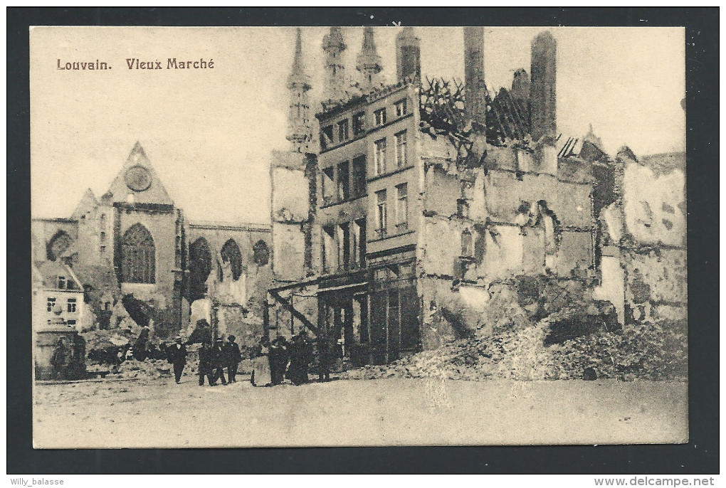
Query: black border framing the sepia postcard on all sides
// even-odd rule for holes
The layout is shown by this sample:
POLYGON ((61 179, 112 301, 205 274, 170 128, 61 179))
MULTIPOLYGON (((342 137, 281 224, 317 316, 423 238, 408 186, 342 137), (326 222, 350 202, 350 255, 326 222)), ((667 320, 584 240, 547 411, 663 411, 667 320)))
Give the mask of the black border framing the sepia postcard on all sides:
POLYGON ((7 9, 8 473, 717 473, 719 470, 719 10, 7 9), (29 25, 685 26, 690 442, 577 447, 33 450, 29 25))

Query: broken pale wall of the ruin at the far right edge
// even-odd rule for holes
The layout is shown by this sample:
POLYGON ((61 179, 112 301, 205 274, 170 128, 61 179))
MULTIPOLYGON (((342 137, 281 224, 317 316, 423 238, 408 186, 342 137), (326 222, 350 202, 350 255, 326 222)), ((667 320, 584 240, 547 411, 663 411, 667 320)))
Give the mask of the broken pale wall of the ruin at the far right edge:
MULTIPOLYGON (((595 295, 612 302, 623 323, 685 328, 685 154, 638 160, 624 147, 611 163, 611 173, 612 202, 600 212, 602 276, 595 295)), ((607 185, 607 179, 598 184, 607 185)))

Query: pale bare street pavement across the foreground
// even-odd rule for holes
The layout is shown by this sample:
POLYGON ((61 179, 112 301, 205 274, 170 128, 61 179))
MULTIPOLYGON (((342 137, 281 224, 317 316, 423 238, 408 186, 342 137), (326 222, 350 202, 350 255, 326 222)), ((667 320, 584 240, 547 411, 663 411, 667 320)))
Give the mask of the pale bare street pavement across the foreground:
POLYGON ((685 442, 688 384, 383 379, 36 384, 40 448, 685 442))

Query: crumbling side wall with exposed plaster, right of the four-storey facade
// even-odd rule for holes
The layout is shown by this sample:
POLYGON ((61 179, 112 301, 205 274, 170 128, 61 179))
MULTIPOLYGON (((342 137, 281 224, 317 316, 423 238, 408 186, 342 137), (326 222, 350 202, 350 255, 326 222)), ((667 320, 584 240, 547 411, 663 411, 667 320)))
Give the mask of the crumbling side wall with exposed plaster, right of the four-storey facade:
POLYGON ((419 253, 425 348, 592 301, 587 165, 568 160, 566 174, 555 176, 533 170, 532 152, 489 149, 483 168, 427 160, 419 253))

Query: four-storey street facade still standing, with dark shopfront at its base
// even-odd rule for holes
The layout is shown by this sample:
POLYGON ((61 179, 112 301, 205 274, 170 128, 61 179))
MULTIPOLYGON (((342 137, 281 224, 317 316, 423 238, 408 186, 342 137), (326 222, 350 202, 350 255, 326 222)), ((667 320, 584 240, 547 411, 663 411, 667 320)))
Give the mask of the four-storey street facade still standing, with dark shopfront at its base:
POLYGON ((318 114, 319 328, 341 354, 393 360, 420 347, 416 84, 318 114))

